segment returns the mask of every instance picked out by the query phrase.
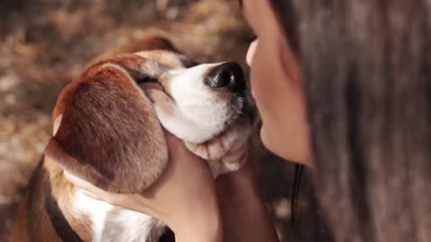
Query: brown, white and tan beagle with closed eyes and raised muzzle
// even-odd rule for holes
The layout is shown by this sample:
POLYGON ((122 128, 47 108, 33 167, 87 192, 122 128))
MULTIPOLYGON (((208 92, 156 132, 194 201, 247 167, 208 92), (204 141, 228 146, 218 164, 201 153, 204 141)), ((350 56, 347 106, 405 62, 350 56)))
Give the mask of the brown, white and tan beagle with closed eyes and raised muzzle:
POLYGON ((60 115, 11 241, 158 241, 163 221, 92 199, 64 171, 109 192, 142 193, 168 164, 166 130, 216 177, 242 167, 258 118, 240 65, 197 64, 172 50, 91 65, 61 91, 53 120, 60 115))

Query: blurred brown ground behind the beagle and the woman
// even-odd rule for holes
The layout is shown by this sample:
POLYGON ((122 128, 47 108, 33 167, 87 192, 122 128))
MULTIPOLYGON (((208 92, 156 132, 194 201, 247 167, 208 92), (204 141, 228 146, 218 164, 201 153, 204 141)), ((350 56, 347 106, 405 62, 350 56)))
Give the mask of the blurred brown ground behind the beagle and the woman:
MULTIPOLYGON (((48 142, 57 94, 92 57, 157 30, 196 61, 233 60, 246 68, 251 35, 232 0, 3 0, 0 22, 0 242, 7 241, 48 142)), ((270 155, 257 138, 256 145, 261 190, 288 241, 295 237, 289 220, 294 166, 270 155)))

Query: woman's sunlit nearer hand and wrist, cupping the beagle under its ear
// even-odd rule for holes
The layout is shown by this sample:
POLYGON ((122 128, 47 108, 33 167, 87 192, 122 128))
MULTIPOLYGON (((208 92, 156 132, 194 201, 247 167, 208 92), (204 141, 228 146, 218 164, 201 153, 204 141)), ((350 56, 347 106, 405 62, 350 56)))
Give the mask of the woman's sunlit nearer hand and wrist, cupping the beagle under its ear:
POLYGON ((193 155, 172 134, 166 134, 166 139, 169 164, 143 194, 109 193, 65 171, 66 179, 95 199, 163 220, 176 241, 222 241, 216 186, 207 161, 193 155))

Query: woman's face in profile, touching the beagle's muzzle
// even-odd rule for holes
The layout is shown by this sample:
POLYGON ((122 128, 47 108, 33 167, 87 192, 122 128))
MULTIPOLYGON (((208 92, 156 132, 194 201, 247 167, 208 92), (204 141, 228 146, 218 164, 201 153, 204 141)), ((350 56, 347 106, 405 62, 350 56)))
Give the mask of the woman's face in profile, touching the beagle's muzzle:
POLYGON ((251 43, 247 63, 262 119, 262 142, 286 160, 310 165, 301 67, 268 0, 243 0, 242 6, 258 37, 251 43))

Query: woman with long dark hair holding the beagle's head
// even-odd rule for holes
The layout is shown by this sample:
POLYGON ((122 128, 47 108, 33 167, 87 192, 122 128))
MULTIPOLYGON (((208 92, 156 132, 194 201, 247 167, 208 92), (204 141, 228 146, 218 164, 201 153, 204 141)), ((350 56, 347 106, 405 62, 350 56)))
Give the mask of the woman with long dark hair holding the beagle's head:
MULTIPOLYGON (((428 2, 243 0, 259 36, 247 60, 261 139, 312 169, 335 241, 431 241, 428 2)), ((250 163, 214 182, 167 135, 172 165, 147 197, 69 179, 165 220, 177 241, 221 241, 222 232, 224 241, 277 241, 250 163), (193 177, 189 167, 199 169, 193 177)))

